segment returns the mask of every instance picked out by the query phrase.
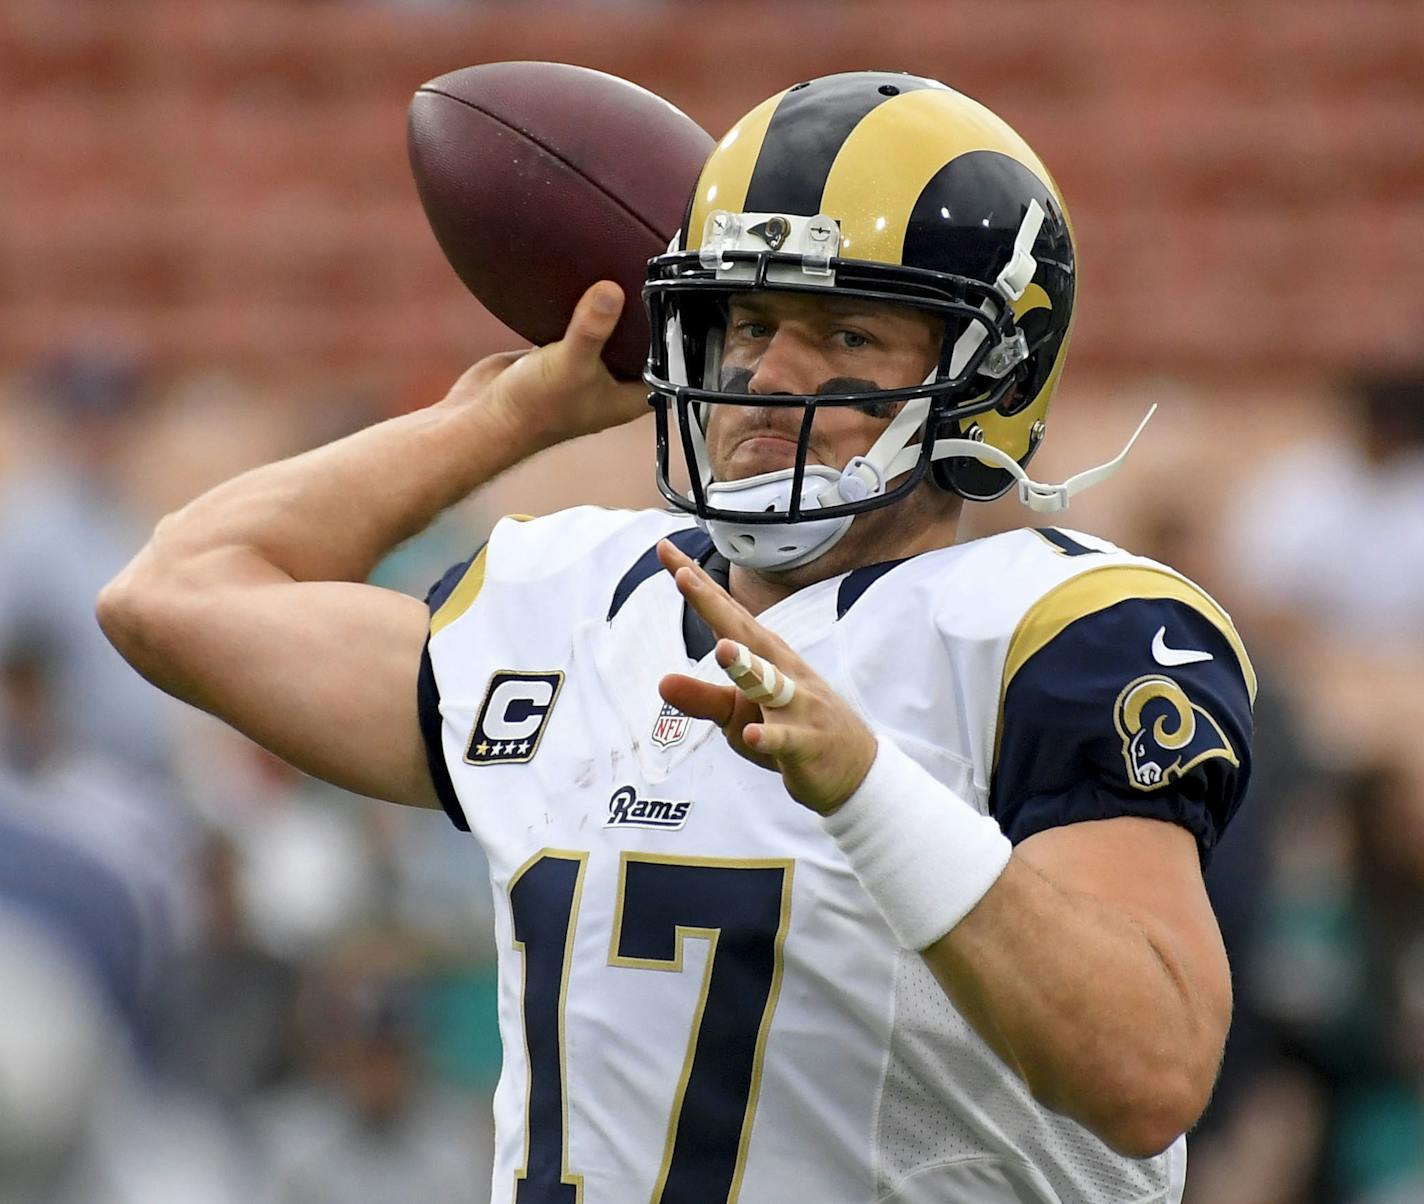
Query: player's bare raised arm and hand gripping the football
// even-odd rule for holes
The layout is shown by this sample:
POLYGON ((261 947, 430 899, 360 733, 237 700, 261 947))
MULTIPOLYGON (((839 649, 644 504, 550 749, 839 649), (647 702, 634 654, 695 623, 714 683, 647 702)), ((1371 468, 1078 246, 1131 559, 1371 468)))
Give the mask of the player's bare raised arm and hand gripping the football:
POLYGON ((470 369, 436 406, 245 472, 164 518, 98 599, 154 685, 362 794, 437 806, 416 683, 417 599, 366 585, 393 546, 533 453, 644 413, 598 356, 594 286, 558 343, 470 369))

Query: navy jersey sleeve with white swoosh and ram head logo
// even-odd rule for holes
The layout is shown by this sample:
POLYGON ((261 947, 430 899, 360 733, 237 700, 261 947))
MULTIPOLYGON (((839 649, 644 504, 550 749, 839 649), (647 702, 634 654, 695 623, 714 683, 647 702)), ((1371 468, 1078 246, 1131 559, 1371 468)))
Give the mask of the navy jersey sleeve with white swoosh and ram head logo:
POLYGON ((1015 844, 1082 820, 1168 820, 1205 865, 1250 776, 1255 676, 1240 639, 1166 574, 1118 569, 1069 593, 1015 636, 990 807, 1015 844), (1168 596, 1116 596, 1149 576, 1168 596))

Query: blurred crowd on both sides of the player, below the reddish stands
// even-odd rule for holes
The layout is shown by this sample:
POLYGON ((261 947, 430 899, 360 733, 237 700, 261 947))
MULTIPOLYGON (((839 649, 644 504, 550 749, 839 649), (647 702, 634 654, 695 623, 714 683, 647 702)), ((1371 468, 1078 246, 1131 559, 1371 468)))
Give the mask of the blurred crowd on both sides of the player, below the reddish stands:
MULTIPOLYGON (((171 703, 93 619, 167 509, 389 408, 159 381, 103 343, 0 397, 0 1204, 486 1198, 476 844, 171 703)), ((1209 508, 1151 460, 1105 487, 1125 542, 1236 615, 1263 682, 1252 796, 1209 874, 1236 1020, 1192 1204, 1424 1200, 1424 380, 1349 381, 1330 413, 1209 508)), ((609 461, 631 501, 641 434, 609 461)), ((1230 437, 1206 424, 1193 454, 1230 437)), ((382 583, 423 593, 497 501, 382 583)))

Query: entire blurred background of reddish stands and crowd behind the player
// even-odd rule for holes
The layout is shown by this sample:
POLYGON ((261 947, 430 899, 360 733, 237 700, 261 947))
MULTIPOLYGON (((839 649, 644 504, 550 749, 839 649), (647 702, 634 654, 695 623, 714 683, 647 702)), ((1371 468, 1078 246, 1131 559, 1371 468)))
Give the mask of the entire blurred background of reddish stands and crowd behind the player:
MULTIPOLYGON (((232 472, 511 346, 406 168, 424 80, 627 75, 713 134, 797 78, 937 75, 1072 206, 1038 475, 1236 615, 1265 683, 1212 867, 1237 1019, 1192 1204, 1424 1201, 1424 6, 1400 0, 9 0, 0 11, 0 1201, 483 1200, 483 867, 167 704, 97 588, 232 472)), ((644 424, 507 511, 654 500, 644 424)), ((412 465, 419 471, 419 465, 412 465)), ((1017 525, 983 508, 974 534, 1017 525)))

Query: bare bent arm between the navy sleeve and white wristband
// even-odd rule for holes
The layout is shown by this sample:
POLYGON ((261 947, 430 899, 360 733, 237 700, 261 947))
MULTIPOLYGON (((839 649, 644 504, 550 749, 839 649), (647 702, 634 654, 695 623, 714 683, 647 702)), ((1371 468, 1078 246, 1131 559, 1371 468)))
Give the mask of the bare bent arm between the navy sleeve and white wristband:
POLYGON ((1119 817, 1032 835, 923 956, 1040 1103, 1121 1153, 1159 1153, 1205 1110, 1232 989, 1185 828, 1119 817))

